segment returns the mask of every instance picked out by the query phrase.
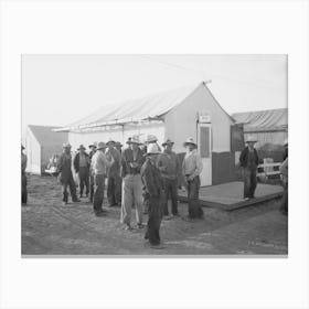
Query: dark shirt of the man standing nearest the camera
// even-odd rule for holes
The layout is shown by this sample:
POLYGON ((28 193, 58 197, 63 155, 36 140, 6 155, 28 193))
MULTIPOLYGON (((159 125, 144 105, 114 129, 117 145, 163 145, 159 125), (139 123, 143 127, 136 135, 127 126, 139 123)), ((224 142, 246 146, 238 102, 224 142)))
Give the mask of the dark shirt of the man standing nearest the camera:
POLYGON ((141 167, 141 181, 146 195, 160 196, 163 189, 163 180, 157 166, 147 159, 141 167))

